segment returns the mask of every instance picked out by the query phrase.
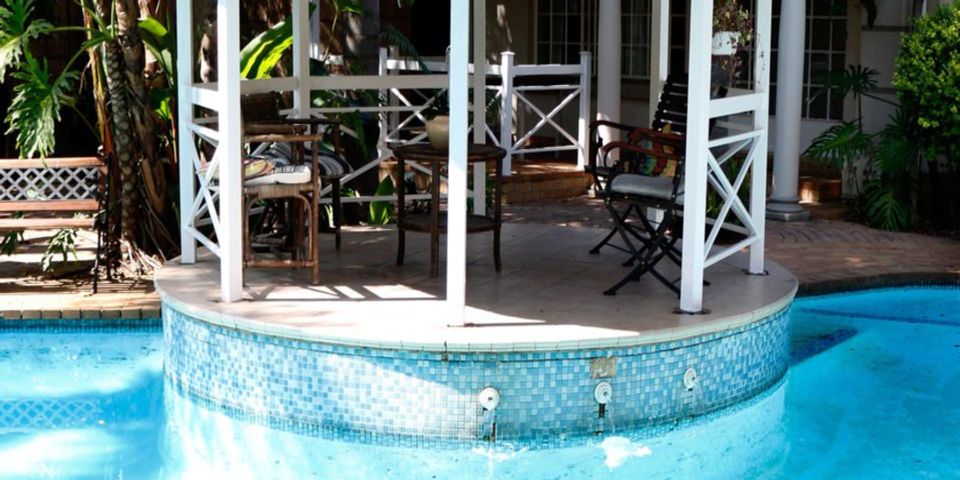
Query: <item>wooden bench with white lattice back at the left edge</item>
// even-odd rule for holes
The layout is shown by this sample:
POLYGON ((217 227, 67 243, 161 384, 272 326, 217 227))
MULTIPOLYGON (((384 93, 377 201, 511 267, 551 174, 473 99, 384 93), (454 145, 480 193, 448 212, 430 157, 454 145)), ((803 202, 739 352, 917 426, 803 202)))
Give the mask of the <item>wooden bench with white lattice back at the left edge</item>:
POLYGON ((93 292, 96 293, 107 232, 106 193, 107 166, 97 157, 0 160, 0 234, 24 230, 95 230, 93 292), (23 217, 15 218, 13 214, 17 212, 23 217), (78 213, 90 216, 77 218, 78 213))

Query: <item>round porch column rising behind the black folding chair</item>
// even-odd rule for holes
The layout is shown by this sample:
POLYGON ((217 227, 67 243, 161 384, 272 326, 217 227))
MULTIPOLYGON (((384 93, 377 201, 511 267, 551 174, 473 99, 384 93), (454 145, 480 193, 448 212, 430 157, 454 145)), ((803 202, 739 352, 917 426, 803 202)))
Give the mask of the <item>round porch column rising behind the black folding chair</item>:
MULTIPOLYGON (((620 121, 620 0, 600 3, 597 28, 597 119, 620 121)), ((617 140, 617 130, 604 128, 605 142, 617 140)))

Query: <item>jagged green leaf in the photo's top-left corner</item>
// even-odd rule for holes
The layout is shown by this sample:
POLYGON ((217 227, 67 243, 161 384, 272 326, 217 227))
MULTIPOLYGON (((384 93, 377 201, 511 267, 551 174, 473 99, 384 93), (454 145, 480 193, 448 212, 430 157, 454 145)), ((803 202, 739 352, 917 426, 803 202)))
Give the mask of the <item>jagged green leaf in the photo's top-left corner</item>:
POLYGON ((0 82, 6 79, 7 70, 22 62, 30 40, 53 30, 53 25, 44 20, 30 22, 33 0, 6 0, 0 5, 0 82))

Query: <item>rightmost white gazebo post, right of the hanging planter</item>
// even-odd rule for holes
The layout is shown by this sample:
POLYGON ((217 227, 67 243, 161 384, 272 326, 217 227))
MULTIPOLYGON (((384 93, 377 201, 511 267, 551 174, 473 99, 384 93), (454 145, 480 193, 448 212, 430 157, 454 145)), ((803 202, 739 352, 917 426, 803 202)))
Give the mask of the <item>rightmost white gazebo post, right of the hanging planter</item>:
MULTIPOLYGON (((801 3, 801 2, 796 2, 801 3)), ((767 139, 770 130, 770 42, 771 18, 773 6, 771 0, 757 1, 757 36, 754 54, 754 88, 760 93, 760 108, 753 114, 753 128, 760 131, 757 145, 754 147, 753 175, 750 179, 750 215, 757 228, 759 239, 750 246, 750 273, 764 273, 764 248, 766 238, 766 202, 767 202, 767 139)))

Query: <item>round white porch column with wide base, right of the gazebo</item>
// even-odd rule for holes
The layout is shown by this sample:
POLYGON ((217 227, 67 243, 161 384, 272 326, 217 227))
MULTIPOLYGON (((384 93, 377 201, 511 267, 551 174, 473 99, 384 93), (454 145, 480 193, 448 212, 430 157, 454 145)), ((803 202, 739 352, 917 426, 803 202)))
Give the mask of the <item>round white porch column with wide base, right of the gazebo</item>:
POLYGON ((800 207, 800 121, 803 115, 803 57, 806 2, 780 1, 780 58, 777 62, 777 134, 773 153, 773 194, 767 217, 806 220, 800 207))

